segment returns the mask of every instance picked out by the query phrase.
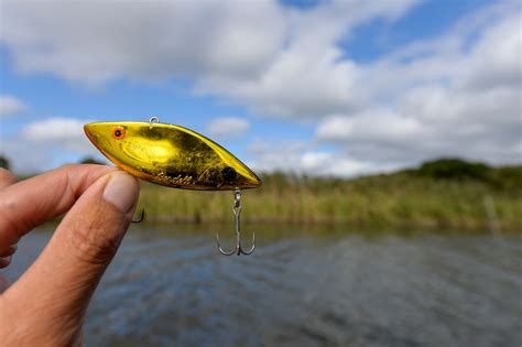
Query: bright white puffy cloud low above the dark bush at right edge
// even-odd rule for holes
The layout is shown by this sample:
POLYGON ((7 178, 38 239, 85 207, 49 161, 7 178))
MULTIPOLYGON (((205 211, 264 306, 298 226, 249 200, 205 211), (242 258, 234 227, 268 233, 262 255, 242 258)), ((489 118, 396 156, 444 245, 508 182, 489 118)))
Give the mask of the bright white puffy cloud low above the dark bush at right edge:
POLYGON ((317 139, 338 143, 352 158, 380 163, 416 164, 438 156, 490 163, 518 163, 520 93, 510 88, 455 91, 420 88, 392 112, 370 109, 325 119, 317 139))

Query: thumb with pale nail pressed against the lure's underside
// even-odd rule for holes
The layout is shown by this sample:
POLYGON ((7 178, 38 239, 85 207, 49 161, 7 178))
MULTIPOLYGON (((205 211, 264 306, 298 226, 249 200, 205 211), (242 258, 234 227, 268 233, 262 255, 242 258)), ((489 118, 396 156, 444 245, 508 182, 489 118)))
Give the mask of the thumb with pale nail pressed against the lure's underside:
POLYGON ((8 289, 6 300, 23 302, 32 317, 43 314, 55 327, 80 326, 129 227, 139 191, 138 181, 121 171, 98 178, 64 217, 39 259, 8 289))

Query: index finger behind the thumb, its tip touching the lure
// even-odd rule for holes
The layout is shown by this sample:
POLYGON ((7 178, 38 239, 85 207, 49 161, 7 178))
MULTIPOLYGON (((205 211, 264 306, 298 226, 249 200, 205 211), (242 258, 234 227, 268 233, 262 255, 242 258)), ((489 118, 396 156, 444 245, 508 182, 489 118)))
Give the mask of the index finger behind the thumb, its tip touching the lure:
POLYGON ((67 212, 89 185, 112 170, 106 165, 66 165, 0 191, 0 250, 67 212))

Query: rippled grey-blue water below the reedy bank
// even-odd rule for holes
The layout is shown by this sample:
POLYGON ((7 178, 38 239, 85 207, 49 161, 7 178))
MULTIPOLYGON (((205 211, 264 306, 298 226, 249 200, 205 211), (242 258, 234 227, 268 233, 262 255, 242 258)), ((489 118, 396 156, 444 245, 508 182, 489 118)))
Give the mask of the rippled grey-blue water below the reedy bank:
MULTIPOLYGON (((94 297, 87 346, 522 344, 522 236, 258 226, 253 256, 222 257, 210 229, 230 227, 140 227, 94 297)), ((24 238, 7 274, 50 236, 24 238)))

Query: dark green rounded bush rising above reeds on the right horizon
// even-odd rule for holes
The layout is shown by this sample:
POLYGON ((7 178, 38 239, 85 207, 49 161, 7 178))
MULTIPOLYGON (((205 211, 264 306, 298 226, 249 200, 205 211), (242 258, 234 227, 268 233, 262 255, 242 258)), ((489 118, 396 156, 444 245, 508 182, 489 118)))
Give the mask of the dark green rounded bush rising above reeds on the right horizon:
POLYGON ((483 163, 470 163, 460 159, 439 159, 423 163, 416 173, 443 180, 491 180, 492 169, 483 163))

